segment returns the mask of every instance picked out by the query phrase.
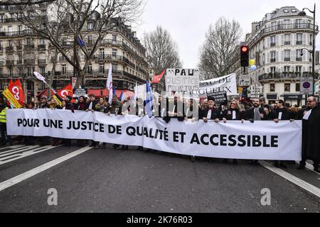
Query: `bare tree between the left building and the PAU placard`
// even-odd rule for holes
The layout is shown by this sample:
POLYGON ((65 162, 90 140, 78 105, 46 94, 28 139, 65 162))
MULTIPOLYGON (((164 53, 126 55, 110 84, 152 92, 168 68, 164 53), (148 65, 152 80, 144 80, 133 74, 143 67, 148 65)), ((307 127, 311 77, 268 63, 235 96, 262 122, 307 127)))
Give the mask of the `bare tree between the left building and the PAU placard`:
POLYGON ((155 31, 144 34, 144 46, 149 66, 156 74, 168 68, 182 67, 178 46, 168 31, 157 26, 155 31))

